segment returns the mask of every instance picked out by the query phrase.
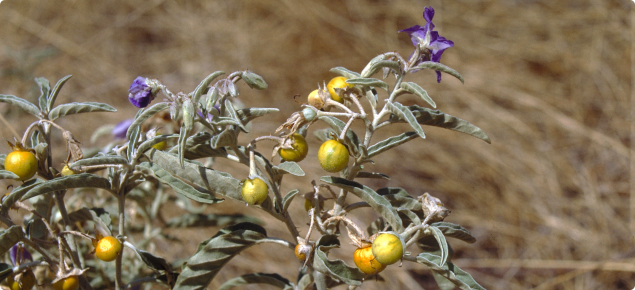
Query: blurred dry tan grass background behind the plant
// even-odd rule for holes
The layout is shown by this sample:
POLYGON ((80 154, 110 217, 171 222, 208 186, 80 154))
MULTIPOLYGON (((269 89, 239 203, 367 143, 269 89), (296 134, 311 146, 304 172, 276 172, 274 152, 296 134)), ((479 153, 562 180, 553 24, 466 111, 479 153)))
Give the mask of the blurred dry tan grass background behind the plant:
MULTIPOLYGON (((385 51, 407 56, 410 41, 396 32, 422 25, 426 5, 436 9, 441 34, 455 42, 443 62, 466 82, 445 75, 437 84, 431 72, 410 80, 428 90, 440 110, 480 126, 492 144, 425 128, 426 140, 376 160, 373 169, 392 180, 368 184, 429 191, 445 201, 452 209, 447 220, 478 239, 472 245, 451 241, 455 262, 488 289, 635 289, 627 1, 3 0, 0 93, 35 100, 33 77, 55 82, 73 74, 59 102, 107 102, 119 109, 90 122, 81 115, 60 121, 87 143, 84 132, 134 116, 126 91, 138 75, 189 91, 212 71, 251 69, 269 89, 242 86, 240 98, 250 106, 281 109, 255 130, 271 133, 298 110, 292 96, 328 81, 330 68, 360 71, 385 51)), ((18 132, 33 121, 3 104, 0 113, 18 132)), ((0 134, 12 136, 4 126, 0 134)), ((317 140, 310 142, 317 148, 317 140)), ((315 164, 315 157, 301 164, 309 178, 324 173, 315 164)), ((246 170, 232 173, 242 178, 246 170)), ((310 189, 306 179, 290 181, 286 190, 310 189)), ((231 205, 223 210, 243 210, 231 205)), ((291 239, 275 221, 265 227, 270 235, 291 239)), ((157 242, 156 251, 184 258, 215 231, 173 232, 192 238, 157 242)), ((210 289, 254 271, 295 281, 295 258, 279 252, 276 246, 248 250, 210 289)), ((430 273, 411 263, 391 266, 383 276, 387 282, 360 289, 436 289, 430 273)))

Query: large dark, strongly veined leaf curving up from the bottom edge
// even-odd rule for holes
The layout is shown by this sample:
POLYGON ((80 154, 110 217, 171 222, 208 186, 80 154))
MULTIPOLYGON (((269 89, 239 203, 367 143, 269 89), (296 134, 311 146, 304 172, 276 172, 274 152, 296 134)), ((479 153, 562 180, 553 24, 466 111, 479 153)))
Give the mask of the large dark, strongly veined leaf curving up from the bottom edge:
POLYGON ((199 245, 196 254, 183 266, 173 289, 205 289, 234 256, 265 238, 265 229, 252 223, 240 223, 220 230, 199 245))

